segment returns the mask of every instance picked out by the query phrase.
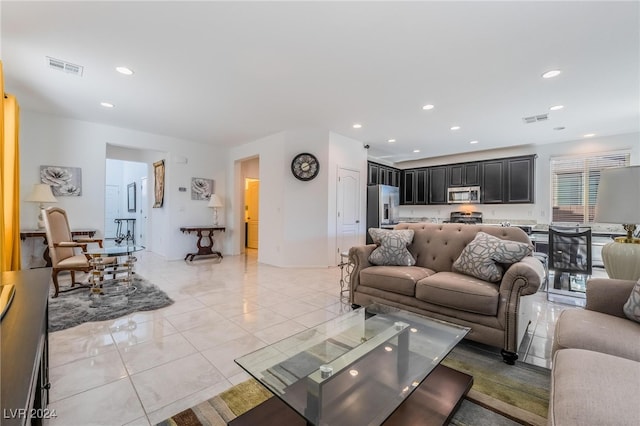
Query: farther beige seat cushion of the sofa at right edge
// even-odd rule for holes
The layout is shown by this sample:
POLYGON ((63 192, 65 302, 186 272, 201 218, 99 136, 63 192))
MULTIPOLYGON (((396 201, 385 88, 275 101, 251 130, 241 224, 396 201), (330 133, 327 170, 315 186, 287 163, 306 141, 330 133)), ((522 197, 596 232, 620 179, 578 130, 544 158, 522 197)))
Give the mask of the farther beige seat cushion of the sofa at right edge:
POLYGON ((565 309, 558 316, 553 350, 586 349, 640 362, 640 324, 602 312, 565 309))

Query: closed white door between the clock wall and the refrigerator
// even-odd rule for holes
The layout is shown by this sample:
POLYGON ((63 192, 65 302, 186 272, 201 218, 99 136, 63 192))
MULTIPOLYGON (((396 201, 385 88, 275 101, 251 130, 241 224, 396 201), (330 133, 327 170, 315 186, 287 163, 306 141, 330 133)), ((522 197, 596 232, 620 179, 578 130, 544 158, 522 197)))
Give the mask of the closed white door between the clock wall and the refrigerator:
POLYGON ((338 169, 337 188, 337 244, 336 264, 340 263, 340 253, 359 244, 360 232, 360 172, 338 169))

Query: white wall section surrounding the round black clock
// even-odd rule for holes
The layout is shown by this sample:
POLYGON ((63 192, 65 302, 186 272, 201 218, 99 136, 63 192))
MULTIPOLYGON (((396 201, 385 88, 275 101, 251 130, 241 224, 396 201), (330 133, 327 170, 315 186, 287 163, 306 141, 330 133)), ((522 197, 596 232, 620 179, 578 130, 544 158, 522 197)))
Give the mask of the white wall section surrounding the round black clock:
MULTIPOLYGON (((324 130, 294 129, 231 149, 227 181, 234 196, 226 208, 235 229, 243 221, 240 162, 255 156, 260 161, 258 261, 285 267, 335 265, 337 167, 360 170, 366 183, 362 143, 324 130), (291 174, 291 160, 301 152, 320 162, 320 172, 311 181, 302 182, 291 174)), ((228 237, 232 252, 239 253, 240 235, 228 237)))

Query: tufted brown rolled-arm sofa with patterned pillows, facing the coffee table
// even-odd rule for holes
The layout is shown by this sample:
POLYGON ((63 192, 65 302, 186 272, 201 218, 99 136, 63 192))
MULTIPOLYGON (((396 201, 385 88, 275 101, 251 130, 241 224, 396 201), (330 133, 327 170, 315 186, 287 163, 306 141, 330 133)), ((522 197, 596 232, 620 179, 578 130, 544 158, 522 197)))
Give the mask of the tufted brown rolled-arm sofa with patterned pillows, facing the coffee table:
POLYGON ((499 347, 505 362, 515 362, 534 314, 532 298, 526 296, 534 294, 545 279, 544 267, 532 256, 524 231, 402 223, 390 233, 370 232, 377 235, 373 238, 377 244, 349 251, 354 307, 381 303, 470 327, 467 339, 499 347), (393 235, 403 233, 406 244, 393 240, 393 235), (397 255, 391 261, 376 255, 385 245, 397 255), (400 255, 402 246, 410 256, 400 255))

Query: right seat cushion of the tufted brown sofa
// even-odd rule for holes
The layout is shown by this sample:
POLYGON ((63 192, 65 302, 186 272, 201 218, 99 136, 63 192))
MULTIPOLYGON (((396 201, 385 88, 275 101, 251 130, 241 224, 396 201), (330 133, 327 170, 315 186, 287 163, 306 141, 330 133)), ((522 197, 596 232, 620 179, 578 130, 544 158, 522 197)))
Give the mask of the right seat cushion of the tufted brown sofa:
POLYGON ((416 283, 416 298, 435 305, 496 315, 500 291, 489 283, 456 272, 438 272, 416 283))

